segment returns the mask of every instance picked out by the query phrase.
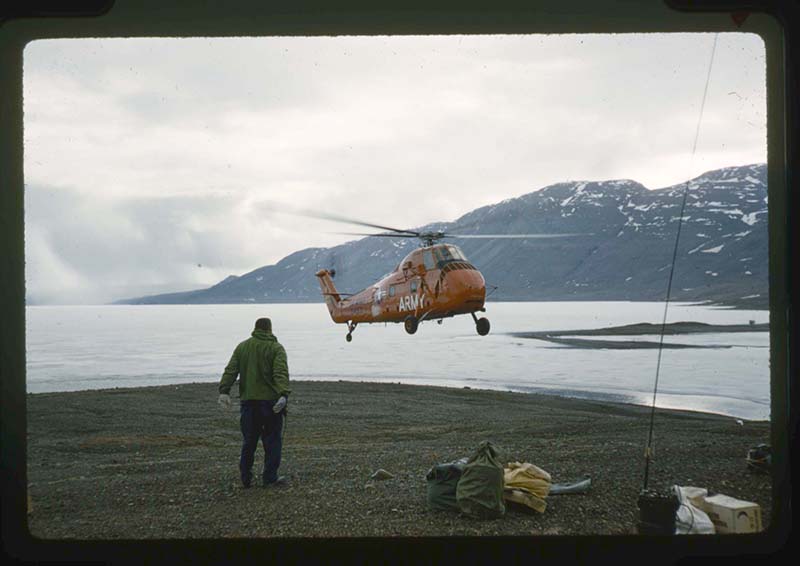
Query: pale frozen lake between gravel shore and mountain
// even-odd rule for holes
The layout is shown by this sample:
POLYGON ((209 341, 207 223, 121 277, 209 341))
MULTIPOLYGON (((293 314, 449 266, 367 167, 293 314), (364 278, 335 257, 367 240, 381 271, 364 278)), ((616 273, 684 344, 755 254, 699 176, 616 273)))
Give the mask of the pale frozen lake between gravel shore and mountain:
MULTIPOLYGON (((413 336, 401 324, 361 325, 347 343, 344 325, 333 324, 323 304, 27 307, 27 390, 218 382, 255 319, 269 316, 295 380, 469 386, 649 405, 657 349, 578 349, 508 333, 660 324, 663 310, 663 303, 642 302, 487 303, 492 330, 485 337, 470 317, 460 316, 423 323, 413 336)), ((667 319, 750 320, 769 322, 769 313, 671 304, 667 319)), ((624 339, 657 342, 658 336, 624 339)), ((730 347, 665 349, 658 406, 769 418, 769 333, 678 335, 665 342, 730 347)))

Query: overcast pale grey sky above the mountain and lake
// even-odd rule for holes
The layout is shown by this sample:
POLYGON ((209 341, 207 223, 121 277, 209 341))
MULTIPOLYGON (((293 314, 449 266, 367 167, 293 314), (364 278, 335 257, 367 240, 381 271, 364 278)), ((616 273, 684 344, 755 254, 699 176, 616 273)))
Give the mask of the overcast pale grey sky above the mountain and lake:
POLYGON ((567 180, 657 189, 766 162, 755 35, 42 40, 24 52, 37 303, 207 287, 352 229, 567 180))

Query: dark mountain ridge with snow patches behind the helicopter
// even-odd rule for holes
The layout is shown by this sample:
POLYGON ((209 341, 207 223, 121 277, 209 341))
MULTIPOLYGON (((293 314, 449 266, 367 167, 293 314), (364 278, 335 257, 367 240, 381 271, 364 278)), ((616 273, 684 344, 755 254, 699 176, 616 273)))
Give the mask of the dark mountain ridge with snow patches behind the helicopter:
MULTIPOLYGON (((765 308, 767 168, 709 171, 649 190, 631 180, 570 181, 485 206, 420 230, 463 234, 569 233, 555 239, 454 239, 480 269, 489 300, 663 300, 681 223, 671 300, 765 308)), ((417 245, 364 238, 295 252, 275 265, 200 291, 125 303, 321 301, 314 273, 335 267, 337 287, 355 292, 391 271, 417 245)))

